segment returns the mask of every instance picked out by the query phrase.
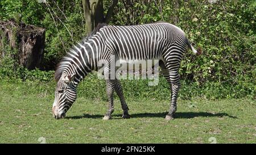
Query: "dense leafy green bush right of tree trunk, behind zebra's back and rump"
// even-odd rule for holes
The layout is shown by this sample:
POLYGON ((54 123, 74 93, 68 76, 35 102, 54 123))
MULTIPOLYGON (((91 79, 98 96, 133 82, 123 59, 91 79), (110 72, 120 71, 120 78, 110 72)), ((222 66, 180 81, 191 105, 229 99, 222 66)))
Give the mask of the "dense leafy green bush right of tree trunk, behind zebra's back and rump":
MULTIPOLYGON (((187 34, 200 57, 185 53, 181 79, 196 82, 195 89, 210 98, 255 97, 255 1, 121 1, 113 24, 173 23, 187 34), (122 19, 122 20, 120 20, 122 19), (214 93, 216 92, 216 93, 214 93)), ((197 91, 196 94, 198 94, 197 91)))

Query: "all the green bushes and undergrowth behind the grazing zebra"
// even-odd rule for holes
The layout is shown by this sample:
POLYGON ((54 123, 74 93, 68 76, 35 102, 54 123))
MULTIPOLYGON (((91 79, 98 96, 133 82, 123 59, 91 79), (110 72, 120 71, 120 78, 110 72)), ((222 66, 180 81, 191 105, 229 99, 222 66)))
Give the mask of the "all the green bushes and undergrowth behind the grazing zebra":
MULTIPOLYGON (((46 28, 44 69, 52 70, 73 43, 85 36, 82 2, 72 0, 47 1, 2 0, 0 19, 14 18, 18 22, 46 28)), ((109 0, 104 1, 105 14, 109 0)), ((203 97, 255 98, 256 94, 256 2, 237 1, 118 1, 112 21, 114 25, 129 25, 166 21, 179 26, 195 47, 203 48, 203 55, 185 52, 179 70, 183 81, 180 98, 203 97)), ((15 52, 9 47, 6 51, 15 52)), ((51 81, 53 71, 28 71, 21 68, 9 54, 0 59, 1 77, 22 81, 42 79, 51 81)), ((158 86, 147 86, 148 81, 121 81, 127 98, 166 99, 170 96, 163 77, 158 86)), ((106 99, 105 82, 92 74, 79 86, 81 94, 89 98, 106 99), (97 91, 96 91, 97 90, 97 91)))

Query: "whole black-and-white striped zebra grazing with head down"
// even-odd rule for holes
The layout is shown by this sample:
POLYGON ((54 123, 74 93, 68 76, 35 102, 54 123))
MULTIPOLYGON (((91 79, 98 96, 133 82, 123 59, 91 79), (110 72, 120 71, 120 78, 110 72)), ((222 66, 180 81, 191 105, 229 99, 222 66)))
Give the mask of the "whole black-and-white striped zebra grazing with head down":
POLYGON ((109 102, 108 111, 103 119, 112 118, 114 91, 121 102, 122 118, 130 118, 121 83, 116 77, 110 78, 112 74, 110 66, 117 60, 158 59, 162 74, 171 90, 171 106, 166 120, 174 119, 180 89, 178 70, 181 59, 187 46, 196 55, 201 55, 201 48, 196 50, 189 43, 183 30, 167 22, 133 26, 100 24, 96 29, 91 36, 74 45, 56 67, 57 86, 52 106, 53 116, 56 119, 64 118, 77 98, 79 82, 90 72, 98 71, 103 67, 109 102))

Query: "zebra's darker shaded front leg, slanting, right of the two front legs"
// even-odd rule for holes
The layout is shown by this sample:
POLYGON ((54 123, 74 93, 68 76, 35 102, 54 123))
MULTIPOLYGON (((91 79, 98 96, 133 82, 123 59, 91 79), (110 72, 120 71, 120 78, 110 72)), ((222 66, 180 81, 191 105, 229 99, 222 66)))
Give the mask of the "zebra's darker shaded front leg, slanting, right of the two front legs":
POLYGON ((123 119, 131 118, 131 116, 128 113, 129 107, 127 106, 127 104, 125 102, 125 97, 123 97, 122 85, 121 85, 121 83, 119 82, 118 79, 115 81, 114 89, 115 89, 115 92, 117 93, 117 95, 120 99, 120 102, 121 102, 121 106, 122 106, 122 110, 123 110, 122 118, 123 119))

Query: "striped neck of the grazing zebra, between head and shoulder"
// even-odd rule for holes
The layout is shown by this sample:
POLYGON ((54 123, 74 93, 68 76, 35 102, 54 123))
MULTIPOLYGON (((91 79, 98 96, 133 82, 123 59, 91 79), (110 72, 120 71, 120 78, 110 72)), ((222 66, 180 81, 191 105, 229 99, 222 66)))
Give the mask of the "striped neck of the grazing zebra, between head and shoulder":
POLYGON ((77 43, 61 62, 63 76, 75 74, 72 82, 73 85, 78 85, 92 70, 97 70, 98 61, 104 49, 102 38, 98 36, 77 43))

